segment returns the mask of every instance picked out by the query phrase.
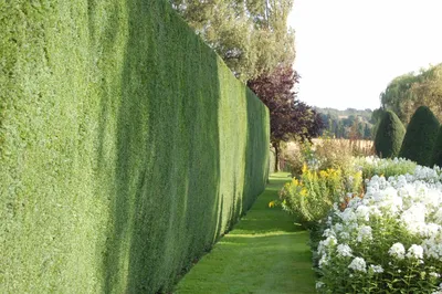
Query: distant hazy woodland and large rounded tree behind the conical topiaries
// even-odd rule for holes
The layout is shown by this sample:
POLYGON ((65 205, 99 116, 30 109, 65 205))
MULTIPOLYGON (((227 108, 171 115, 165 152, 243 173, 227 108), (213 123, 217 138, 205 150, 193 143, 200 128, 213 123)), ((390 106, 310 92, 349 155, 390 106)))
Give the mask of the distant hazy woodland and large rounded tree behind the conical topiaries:
POLYGON ((388 111, 393 112, 407 127, 414 112, 421 106, 427 106, 442 120, 442 63, 393 78, 379 98, 381 106, 375 111, 316 107, 325 124, 323 134, 337 138, 372 139, 388 111))

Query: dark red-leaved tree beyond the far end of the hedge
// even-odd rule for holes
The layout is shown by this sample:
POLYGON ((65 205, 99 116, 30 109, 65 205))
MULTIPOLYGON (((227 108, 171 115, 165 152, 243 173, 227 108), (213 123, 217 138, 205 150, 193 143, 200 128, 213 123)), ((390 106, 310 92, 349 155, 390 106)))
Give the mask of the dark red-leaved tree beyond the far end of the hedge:
POLYGON ((271 143, 275 148, 275 170, 278 170, 281 141, 291 138, 311 140, 318 136, 324 123, 318 113, 296 99, 294 85, 299 76, 292 67, 277 67, 273 73, 249 81, 248 86, 269 107, 271 143))

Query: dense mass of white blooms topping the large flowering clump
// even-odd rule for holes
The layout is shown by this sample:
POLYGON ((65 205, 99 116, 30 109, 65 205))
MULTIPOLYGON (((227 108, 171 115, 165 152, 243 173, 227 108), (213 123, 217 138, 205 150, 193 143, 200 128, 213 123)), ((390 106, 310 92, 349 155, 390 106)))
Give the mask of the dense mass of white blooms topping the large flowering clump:
MULTIPOLYGON (((429 168, 419 167, 417 170, 431 175, 429 168)), ((438 176, 439 177, 439 176, 438 176)), ((336 210, 335 210, 336 211, 336 210)), ((359 223, 368 222, 371 217, 394 218, 401 220, 402 224, 411 233, 419 234, 422 239, 422 246, 435 248, 425 250, 442 261, 441 231, 442 231, 442 183, 427 182, 421 176, 398 176, 386 180, 383 177, 375 176, 367 183, 367 193, 364 199, 352 199, 344 212, 336 211, 343 223, 350 223, 358 220, 359 223)), ((370 238, 367 225, 358 224, 361 242, 364 237, 370 238)))

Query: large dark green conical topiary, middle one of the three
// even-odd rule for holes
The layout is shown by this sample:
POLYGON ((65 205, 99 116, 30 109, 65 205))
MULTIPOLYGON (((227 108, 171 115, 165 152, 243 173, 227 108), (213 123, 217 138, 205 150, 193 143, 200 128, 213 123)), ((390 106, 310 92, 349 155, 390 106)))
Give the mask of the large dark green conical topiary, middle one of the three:
POLYGON ((413 160, 421 166, 431 166, 438 132, 438 118, 429 107, 419 107, 407 127, 399 157, 413 160))

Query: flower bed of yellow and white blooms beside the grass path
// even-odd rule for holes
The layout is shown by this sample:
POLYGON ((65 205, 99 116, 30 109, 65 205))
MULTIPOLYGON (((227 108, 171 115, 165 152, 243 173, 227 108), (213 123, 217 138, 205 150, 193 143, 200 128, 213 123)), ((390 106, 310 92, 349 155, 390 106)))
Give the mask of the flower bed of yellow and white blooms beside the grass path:
POLYGON ((317 291, 442 294, 441 168, 359 157, 318 170, 311 161, 280 197, 311 230, 317 291))

